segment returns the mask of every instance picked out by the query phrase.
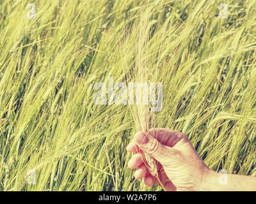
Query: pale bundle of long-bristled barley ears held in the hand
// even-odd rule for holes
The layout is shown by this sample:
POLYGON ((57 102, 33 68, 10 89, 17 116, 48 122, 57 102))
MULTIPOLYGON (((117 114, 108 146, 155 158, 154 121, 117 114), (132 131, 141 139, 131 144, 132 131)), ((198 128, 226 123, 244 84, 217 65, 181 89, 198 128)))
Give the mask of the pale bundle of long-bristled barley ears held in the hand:
MULTIPOLYGON (((143 13, 143 15, 141 15, 140 22, 138 22, 139 29, 137 35, 136 64, 134 68, 132 68, 131 73, 129 73, 129 77, 132 78, 132 80, 140 83, 140 90, 136 90, 140 92, 140 94, 138 94, 140 98, 138 99, 138 96, 135 94, 136 96, 134 97, 134 99, 136 99, 136 101, 134 101, 134 105, 130 106, 132 117, 134 119, 136 130, 143 131, 143 133, 145 134, 148 134, 150 128, 154 128, 154 122, 156 117, 156 114, 154 112, 150 112, 150 94, 148 92, 148 85, 152 81, 159 80, 159 78, 157 78, 157 68, 150 64, 148 60, 150 59, 150 57, 152 57, 149 51, 149 41, 150 31, 152 29, 152 20, 150 20, 150 13, 153 9, 153 7, 150 8, 150 6, 148 6, 147 8, 145 8, 144 12, 141 12, 143 13), (148 97, 148 100, 145 99, 145 96, 148 97)), ((141 152, 141 157, 148 171, 151 173, 151 175, 156 177, 161 187, 163 187, 164 191, 166 191, 164 185, 159 179, 157 161, 145 152, 141 152)))

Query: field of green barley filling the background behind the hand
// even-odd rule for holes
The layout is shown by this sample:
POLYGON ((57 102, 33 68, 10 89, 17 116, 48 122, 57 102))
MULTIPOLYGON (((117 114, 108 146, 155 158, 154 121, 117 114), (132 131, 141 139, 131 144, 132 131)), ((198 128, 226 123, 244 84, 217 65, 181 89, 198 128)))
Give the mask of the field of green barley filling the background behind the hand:
POLYGON ((159 190, 127 168, 129 106, 93 102, 95 83, 135 68, 163 82, 156 128, 188 135, 213 170, 256 176, 255 13, 255 0, 0 0, 0 190, 159 190))

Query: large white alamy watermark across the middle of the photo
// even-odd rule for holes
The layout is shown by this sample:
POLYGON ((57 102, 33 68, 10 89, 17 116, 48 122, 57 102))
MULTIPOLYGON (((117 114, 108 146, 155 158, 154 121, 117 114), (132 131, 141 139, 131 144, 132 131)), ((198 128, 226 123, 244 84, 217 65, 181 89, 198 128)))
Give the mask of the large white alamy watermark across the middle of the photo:
POLYGON ((150 105, 151 112, 159 112, 163 106, 162 82, 128 82, 127 85, 118 82, 114 85, 113 77, 109 77, 108 90, 103 82, 97 82, 93 90, 98 91, 93 98, 97 105, 150 105))

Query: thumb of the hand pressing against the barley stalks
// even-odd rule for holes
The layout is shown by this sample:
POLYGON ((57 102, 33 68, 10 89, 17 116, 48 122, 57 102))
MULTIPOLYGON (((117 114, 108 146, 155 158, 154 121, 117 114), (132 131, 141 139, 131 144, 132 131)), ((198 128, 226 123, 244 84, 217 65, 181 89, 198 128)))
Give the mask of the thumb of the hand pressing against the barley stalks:
POLYGON ((175 154, 171 147, 163 145, 153 136, 143 132, 136 133, 134 142, 143 152, 156 159, 162 165, 170 164, 170 158, 175 154))

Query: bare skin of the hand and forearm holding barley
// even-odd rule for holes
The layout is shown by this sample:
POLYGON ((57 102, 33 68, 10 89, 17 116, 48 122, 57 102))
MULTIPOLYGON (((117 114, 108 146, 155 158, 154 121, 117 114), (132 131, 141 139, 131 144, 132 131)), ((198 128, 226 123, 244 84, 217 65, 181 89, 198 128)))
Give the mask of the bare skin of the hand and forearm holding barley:
POLYGON ((256 191, 256 178, 216 173, 200 159, 184 133, 170 129, 138 132, 127 146, 135 154, 128 167, 147 187, 158 185, 143 163, 142 153, 156 159, 158 177, 166 191, 256 191))

